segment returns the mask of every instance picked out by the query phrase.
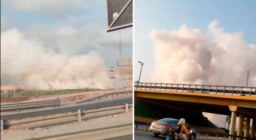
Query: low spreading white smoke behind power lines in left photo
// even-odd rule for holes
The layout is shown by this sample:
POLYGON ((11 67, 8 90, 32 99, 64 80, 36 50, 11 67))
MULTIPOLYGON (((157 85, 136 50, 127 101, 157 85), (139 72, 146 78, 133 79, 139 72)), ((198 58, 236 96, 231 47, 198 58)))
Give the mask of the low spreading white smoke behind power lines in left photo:
MULTIPOLYGON (((69 31, 74 32, 72 29, 69 31)), ((112 88, 106 72, 108 68, 104 66, 105 60, 97 51, 89 51, 86 55, 59 54, 52 47, 45 47, 44 42, 26 37, 18 29, 8 29, 1 33, 1 52, 41 60, 28 60, 1 53, 1 83, 18 84, 28 89, 47 89, 49 84, 60 89, 112 88)))

